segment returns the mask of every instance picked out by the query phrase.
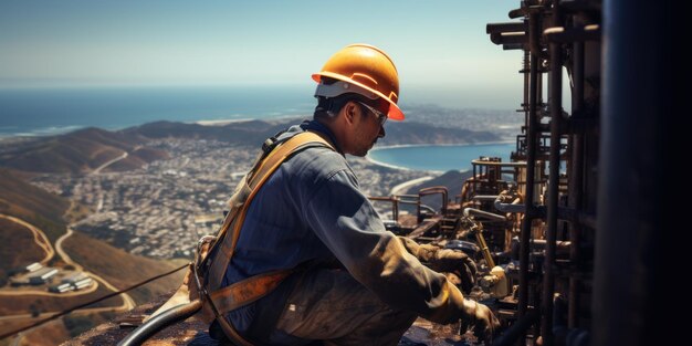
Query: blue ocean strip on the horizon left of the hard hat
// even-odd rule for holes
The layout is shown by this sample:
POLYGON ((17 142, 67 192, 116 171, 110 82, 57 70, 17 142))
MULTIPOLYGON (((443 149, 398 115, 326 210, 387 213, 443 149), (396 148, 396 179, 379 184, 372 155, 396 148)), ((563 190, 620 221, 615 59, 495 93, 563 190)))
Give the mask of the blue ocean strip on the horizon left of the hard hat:
POLYGON ((312 115, 314 85, 0 88, 0 137, 82 127, 120 129, 156 120, 312 115))

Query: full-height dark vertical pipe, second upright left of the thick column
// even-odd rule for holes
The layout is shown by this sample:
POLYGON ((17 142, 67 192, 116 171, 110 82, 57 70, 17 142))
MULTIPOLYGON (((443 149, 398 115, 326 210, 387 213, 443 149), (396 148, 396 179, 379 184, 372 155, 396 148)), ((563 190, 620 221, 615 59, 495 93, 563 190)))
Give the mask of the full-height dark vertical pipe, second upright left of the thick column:
MULTIPOLYGON (((553 6, 553 24, 559 25, 562 15, 559 2, 553 6)), ((553 335, 553 294, 555 293, 555 242, 557 237, 557 201, 559 196, 559 149, 562 141, 560 119, 563 117, 563 59, 559 43, 551 42, 551 74, 548 80, 548 102, 551 104, 551 151, 547 196, 547 224, 545 262, 543 265, 543 318, 541 336, 543 345, 555 344, 553 335)))

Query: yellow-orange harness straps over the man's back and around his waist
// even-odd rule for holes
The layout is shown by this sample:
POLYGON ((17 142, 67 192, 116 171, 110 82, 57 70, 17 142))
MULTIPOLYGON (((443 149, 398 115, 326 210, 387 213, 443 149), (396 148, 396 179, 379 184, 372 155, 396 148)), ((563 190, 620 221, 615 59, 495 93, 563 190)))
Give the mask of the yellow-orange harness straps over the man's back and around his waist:
POLYGON ((240 182, 241 186, 232 198, 231 211, 228 213, 219 231, 216 247, 219 247, 213 258, 209 259, 210 266, 207 273, 207 303, 205 308, 211 310, 224 334, 237 345, 252 346, 238 334, 235 328, 226 321, 222 314, 252 303, 273 291, 291 274, 293 270, 282 270, 248 277, 230 286, 219 289, 231 262, 240 229, 243 226, 250 202, 262 185, 294 153, 307 147, 324 146, 334 150, 334 146, 326 138, 312 132, 300 133, 276 146, 263 160, 240 182), (229 234, 228 230, 232 232, 229 234), (229 237, 230 235, 230 237, 229 237))

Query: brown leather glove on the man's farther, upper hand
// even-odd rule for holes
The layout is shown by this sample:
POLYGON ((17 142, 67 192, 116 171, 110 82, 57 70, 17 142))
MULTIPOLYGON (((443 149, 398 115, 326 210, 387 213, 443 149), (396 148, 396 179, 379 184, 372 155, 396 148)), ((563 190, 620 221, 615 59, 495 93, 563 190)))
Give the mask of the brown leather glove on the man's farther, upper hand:
POLYGON ((440 249, 430 244, 419 244, 406 237, 398 237, 406 250, 436 272, 453 273, 461 281, 461 290, 471 292, 478 271, 475 262, 462 251, 440 249))

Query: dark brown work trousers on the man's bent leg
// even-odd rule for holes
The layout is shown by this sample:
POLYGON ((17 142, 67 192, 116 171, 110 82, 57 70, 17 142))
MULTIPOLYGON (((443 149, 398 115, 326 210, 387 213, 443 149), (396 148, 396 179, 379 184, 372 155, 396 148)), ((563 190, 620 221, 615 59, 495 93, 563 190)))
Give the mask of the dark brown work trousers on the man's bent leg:
POLYGON ((291 335, 324 345, 397 345, 417 318, 382 303, 345 270, 316 269, 302 275, 270 342, 291 335))

